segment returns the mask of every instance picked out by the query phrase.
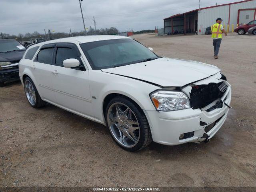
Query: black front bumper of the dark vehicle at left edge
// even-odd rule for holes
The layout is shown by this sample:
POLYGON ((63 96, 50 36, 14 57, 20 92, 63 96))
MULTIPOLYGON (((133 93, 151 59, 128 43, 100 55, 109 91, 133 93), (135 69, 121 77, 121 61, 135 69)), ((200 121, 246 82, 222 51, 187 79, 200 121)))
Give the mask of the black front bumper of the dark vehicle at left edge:
POLYGON ((19 68, 10 68, 10 69, 3 69, 0 70, 0 82, 1 83, 8 83, 19 80, 19 68))

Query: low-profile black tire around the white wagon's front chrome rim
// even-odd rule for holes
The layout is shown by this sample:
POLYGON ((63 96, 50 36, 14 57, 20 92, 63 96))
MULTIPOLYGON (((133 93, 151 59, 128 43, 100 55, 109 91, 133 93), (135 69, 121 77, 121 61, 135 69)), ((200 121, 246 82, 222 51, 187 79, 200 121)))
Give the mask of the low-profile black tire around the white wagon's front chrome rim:
MULTIPOLYGON (((119 144, 114 136, 112 135, 111 131, 110 134, 113 138, 113 140, 118 144, 118 146, 120 146, 121 148, 130 151, 130 152, 134 152, 134 151, 138 151, 138 150, 142 150, 144 149, 146 146, 148 146, 151 142, 152 142, 152 135, 151 135, 151 131, 150 131, 150 126, 148 124, 148 120, 144 114, 144 112, 142 111, 142 109, 132 100, 124 97, 124 96, 118 96, 116 98, 113 98, 107 105, 106 107, 106 112, 105 112, 105 119, 106 119, 106 124, 108 126, 108 109, 110 108, 110 106, 114 103, 122 103, 125 104, 126 106, 128 106, 132 112, 134 112, 134 114, 136 115, 136 118, 138 120, 139 126, 140 126, 140 137, 138 138, 138 143, 132 147, 132 148, 128 148, 125 146, 122 146, 121 144, 119 144)), ((110 127, 108 126, 109 130, 110 127)))

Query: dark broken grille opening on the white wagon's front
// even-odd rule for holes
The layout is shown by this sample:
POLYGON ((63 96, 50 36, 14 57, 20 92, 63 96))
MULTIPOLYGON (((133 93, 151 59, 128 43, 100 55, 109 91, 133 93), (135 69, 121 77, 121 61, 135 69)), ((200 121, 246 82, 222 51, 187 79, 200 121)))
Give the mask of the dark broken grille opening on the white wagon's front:
POLYGON ((194 85, 190 92, 190 105, 193 109, 201 109, 220 99, 228 86, 225 82, 210 83, 208 85, 194 85))

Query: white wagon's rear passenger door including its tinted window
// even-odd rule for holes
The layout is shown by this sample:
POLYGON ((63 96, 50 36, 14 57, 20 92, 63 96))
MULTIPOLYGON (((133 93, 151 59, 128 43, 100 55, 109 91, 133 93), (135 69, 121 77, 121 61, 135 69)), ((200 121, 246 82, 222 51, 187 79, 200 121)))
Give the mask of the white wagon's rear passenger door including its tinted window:
POLYGON ((50 102, 56 102, 53 92, 53 53, 56 44, 46 44, 40 48, 35 60, 31 64, 32 73, 38 84, 41 98, 50 102))

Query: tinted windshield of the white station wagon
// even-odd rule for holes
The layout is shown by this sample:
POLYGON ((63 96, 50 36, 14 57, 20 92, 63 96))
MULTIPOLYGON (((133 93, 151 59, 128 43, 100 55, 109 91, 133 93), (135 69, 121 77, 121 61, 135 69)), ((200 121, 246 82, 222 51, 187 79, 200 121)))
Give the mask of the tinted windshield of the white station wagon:
POLYGON ((132 39, 114 39, 80 44, 92 69, 113 68, 159 58, 132 39))

